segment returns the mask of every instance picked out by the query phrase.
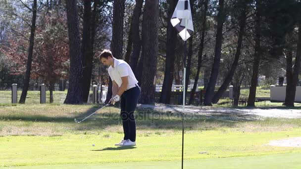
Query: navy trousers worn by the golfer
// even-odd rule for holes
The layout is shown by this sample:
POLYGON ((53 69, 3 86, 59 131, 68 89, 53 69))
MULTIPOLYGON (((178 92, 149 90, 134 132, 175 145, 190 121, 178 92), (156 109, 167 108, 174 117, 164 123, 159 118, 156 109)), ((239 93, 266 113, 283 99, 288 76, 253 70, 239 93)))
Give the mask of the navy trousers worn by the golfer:
POLYGON ((134 111, 140 96, 140 87, 130 88, 123 92, 120 97, 120 116, 122 119, 124 140, 136 141, 136 120, 134 111))

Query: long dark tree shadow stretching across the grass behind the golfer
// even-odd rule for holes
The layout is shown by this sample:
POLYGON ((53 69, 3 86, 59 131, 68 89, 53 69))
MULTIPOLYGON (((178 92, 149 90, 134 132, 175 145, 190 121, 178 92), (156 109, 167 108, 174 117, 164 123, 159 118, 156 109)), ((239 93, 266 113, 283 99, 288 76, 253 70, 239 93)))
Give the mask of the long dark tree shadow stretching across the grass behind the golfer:
MULTIPOLYGON (((2 114, 0 121, 27 121, 27 122, 50 122, 66 123, 72 125, 72 130, 95 130, 104 129, 110 126, 122 125, 120 114, 115 111, 112 113, 96 113, 89 119, 80 124, 74 122, 74 118, 82 120, 101 106, 93 106, 81 114, 70 114, 68 116, 46 116, 46 115, 26 115, 26 114, 2 114)), ((43 110, 42 110, 43 111, 43 110)), ((139 108, 135 112, 137 129, 182 129, 182 113, 176 111, 157 111, 151 108, 139 108)), ((229 112, 216 112, 211 114, 190 113, 185 114, 186 128, 214 129, 217 127, 236 127, 239 122, 255 121, 256 116, 250 114, 239 114, 229 112), (205 126, 205 127, 204 127, 205 126)))

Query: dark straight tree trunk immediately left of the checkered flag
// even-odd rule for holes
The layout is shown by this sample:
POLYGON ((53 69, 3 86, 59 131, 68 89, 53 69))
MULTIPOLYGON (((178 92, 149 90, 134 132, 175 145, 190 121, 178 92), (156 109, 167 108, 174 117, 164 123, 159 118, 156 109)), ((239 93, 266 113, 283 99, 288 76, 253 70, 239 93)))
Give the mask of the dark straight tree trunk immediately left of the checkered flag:
POLYGON ((177 0, 168 0, 167 3, 169 4, 169 8, 166 30, 166 60, 162 92, 159 101, 164 104, 170 104, 171 87, 174 78, 175 48, 177 42, 177 31, 170 22, 177 0))

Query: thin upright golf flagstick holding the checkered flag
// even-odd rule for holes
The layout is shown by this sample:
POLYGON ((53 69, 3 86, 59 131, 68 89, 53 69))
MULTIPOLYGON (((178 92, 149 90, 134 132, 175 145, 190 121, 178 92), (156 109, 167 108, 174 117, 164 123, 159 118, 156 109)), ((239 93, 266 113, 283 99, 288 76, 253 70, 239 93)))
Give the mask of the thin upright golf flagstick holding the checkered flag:
POLYGON ((185 113, 185 89, 186 89, 186 55, 187 55, 187 19, 185 19, 185 46, 184 46, 184 83, 183 83, 183 113, 182 113, 182 169, 184 161, 184 113, 185 113))

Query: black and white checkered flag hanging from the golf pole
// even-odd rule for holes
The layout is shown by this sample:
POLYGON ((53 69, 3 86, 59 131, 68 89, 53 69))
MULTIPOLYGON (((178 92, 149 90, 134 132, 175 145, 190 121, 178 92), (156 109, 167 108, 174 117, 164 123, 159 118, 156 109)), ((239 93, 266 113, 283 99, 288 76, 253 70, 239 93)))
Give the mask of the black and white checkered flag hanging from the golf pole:
POLYGON ((170 22, 177 29, 183 41, 186 41, 193 34, 194 26, 189 0, 178 1, 170 22))

